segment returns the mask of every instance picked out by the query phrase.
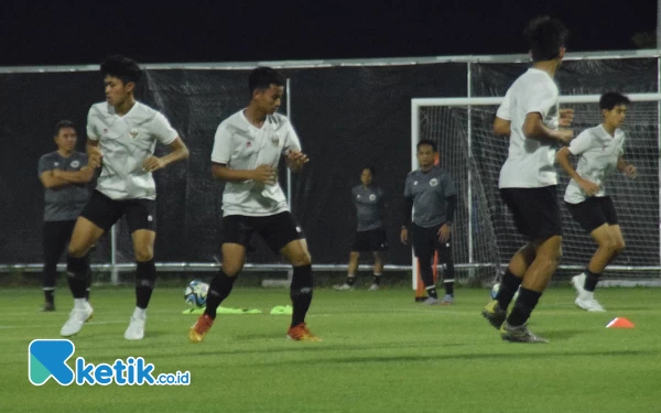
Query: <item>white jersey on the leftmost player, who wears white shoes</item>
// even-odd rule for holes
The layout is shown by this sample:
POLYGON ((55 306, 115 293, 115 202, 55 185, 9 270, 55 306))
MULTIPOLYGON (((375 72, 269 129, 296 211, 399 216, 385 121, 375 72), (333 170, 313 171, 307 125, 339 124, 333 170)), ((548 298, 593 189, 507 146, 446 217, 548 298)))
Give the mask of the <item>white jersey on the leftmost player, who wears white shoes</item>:
POLYGON ((161 112, 137 101, 120 117, 107 102, 93 105, 87 138, 99 141, 104 155, 98 192, 112 199, 155 199, 154 178, 142 170, 142 163, 154 154, 156 141, 167 145, 177 138, 161 112))

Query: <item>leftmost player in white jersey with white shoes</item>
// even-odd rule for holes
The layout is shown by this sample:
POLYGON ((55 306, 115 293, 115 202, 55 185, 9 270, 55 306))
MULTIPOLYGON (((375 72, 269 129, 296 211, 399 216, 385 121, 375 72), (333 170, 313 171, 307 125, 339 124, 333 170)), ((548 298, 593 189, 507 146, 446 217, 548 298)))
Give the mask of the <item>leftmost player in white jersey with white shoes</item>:
POLYGON ((188 157, 188 149, 165 117, 136 101, 141 70, 127 57, 110 56, 101 64, 106 101, 93 105, 87 116, 87 153, 91 167, 101 167, 96 191, 76 221, 68 247, 67 273, 74 309, 62 327, 73 336, 91 317, 85 301, 89 276, 84 257, 96 241, 122 216, 126 217, 137 261, 136 309, 124 333, 126 339, 142 339, 147 306, 156 269, 156 186, 152 173, 188 157), (154 156, 156 142, 170 153, 154 156))

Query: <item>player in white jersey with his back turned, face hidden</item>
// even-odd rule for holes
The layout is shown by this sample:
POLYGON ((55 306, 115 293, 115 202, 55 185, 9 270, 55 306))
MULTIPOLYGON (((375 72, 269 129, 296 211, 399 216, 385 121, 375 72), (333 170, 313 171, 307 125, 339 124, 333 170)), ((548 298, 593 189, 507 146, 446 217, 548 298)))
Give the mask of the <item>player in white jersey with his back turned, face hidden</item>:
POLYGON ((571 130, 557 129, 560 120, 561 126, 567 126, 573 113, 560 112, 553 77, 565 53, 567 30, 560 21, 543 17, 532 20, 525 32, 533 65, 507 91, 494 131, 510 139, 498 187, 528 242, 511 258, 498 295, 483 316, 505 340, 546 343, 528 330, 527 322, 561 257, 562 222, 553 163, 555 148, 573 138, 571 130))

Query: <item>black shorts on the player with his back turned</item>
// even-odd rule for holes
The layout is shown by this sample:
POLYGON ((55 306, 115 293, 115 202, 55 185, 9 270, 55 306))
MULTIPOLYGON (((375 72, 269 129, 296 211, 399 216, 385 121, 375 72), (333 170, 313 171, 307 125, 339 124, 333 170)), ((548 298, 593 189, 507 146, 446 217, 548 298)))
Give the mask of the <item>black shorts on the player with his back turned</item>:
POLYGON ((562 236, 562 215, 555 185, 501 188, 500 197, 514 217, 517 230, 529 240, 562 236))

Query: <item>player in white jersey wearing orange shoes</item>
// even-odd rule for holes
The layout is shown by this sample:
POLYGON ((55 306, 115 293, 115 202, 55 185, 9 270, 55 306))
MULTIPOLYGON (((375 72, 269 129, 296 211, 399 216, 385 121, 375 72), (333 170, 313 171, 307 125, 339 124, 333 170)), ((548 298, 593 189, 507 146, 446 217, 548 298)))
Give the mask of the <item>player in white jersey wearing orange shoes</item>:
POLYGON ((284 156, 292 171, 307 162, 289 119, 277 113, 283 79, 270 67, 258 67, 248 78, 250 102, 224 120, 214 140, 212 174, 225 182, 223 193, 223 265, 209 285, 207 306, 188 332, 191 343, 201 343, 216 308, 231 292, 243 268, 246 249, 257 232, 274 252, 293 267, 290 297, 293 305, 288 337, 317 341, 307 329, 305 314, 312 302, 312 261, 301 227, 289 211, 278 184, 278 164, 284 156))

